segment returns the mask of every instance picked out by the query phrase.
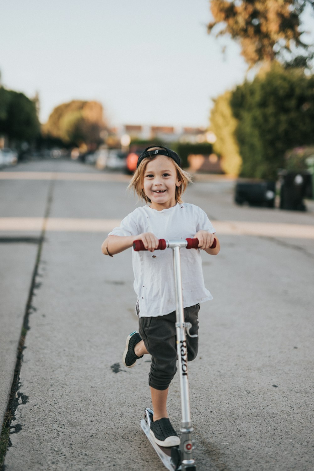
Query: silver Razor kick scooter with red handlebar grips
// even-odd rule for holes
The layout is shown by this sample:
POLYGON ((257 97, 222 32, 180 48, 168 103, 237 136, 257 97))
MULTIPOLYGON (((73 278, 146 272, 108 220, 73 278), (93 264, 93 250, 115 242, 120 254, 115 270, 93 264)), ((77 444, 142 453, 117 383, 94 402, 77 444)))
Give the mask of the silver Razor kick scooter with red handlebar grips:
MULTIPOLYGON (((181 276, 181 259, 180 249, 197 249, 198 239, 187 238, 185 240, 165 240, 160 239, 158 248, 155 250, 165 250, 171 248, 173 251, 173 265, 176 286, 176 332, 177 332, 177 356, 178 356, 178 370, 180 376, 180 395, 181 395, 181 416, 182 427, 180 429, 182 436, 180 445, 177 447, 161 447, 157 445, 150 433, 150 424, 153 419, 153 411, 150 408, 145 409, 144 419, 141 420, 141 427, 145 435, 153 445, 153 448, 160 457, 162 463, 169 471, 196 471, 196 464, 193 458, 193 427, 191 422, 191 409, 190 409, 190 396, 189 396, 189 381, 187 374, 187 349, 186 349, 186 334, 190 337, 197 337, 197 335, 190 334, 192 324, 185 322, 183 311, 182 299, 182 276, 181 276)), ((214 239, 211 249, 216 247, 217 241, 214 239)), ((141 240, 136 240, 133 243, 133 248, 136 252, 145 250, 144 244, 141 240)))

